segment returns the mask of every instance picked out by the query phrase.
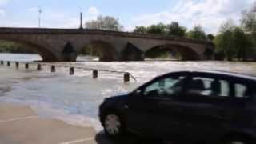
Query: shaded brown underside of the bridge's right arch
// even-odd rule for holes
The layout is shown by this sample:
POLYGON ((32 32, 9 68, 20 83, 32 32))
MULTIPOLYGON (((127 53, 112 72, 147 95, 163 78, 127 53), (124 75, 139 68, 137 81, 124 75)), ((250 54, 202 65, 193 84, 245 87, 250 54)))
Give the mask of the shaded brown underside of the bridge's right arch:
POLYGON ((153 46, 150 47, 150 49, 146 50, 145 54, 149 53, 151 50, 166 50, 169 52, 176 52, 181 56, 182 61, 198 61, 202 59, 200 57, 200 54, 198 54, 198 52, 194 51, 192 48, 178 44, 165 44, 153 46))

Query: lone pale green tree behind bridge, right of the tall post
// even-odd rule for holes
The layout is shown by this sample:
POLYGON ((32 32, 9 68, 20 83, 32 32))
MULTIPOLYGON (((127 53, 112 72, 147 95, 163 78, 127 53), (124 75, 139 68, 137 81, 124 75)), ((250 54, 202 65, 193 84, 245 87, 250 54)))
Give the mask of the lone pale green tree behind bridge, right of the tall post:
POLYGON ((99 29, 99 30, 114 30, 121 31, 123 26, 119 23, 117 18, 110 16, 98 16, 96 20, 86 22, 87 29, 99 29))

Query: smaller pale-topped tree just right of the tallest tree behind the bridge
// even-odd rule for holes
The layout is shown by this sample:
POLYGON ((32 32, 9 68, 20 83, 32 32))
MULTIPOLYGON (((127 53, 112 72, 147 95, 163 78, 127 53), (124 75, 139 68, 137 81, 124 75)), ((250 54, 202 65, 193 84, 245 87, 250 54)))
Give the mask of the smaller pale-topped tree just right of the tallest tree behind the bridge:
POLYGON ((186 34, 187 38, 206 40, 206 32, 202 29, 202 26, 194 26, 193 30, 190 30, 186 34))

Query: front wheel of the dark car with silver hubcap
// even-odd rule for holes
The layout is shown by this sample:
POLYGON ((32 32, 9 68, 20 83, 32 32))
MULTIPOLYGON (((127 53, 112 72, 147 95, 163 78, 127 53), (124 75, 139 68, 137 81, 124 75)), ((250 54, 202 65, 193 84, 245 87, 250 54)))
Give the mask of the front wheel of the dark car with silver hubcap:
POLYGON ((125 134, 125 126, 121 114, 116 110, 108 110, 103 115, 102 126, 107 136, 110 138, 122 138, 125 134))

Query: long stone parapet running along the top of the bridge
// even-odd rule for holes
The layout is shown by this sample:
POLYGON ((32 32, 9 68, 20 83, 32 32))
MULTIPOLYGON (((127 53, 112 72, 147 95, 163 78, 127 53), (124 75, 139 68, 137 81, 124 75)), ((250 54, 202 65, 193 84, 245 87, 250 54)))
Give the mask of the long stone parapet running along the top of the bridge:
POLYGON ((213 45, 212 42, 206 41, 206 40, 198 40, 198 39, 191 39, 191 38, 178 38, 178 37, 171 36, 171 35, 139 34, 139 33, 132 33, 132 32, 113 31, 113 30, 96 30, 96 29, 0 27, 0 34, 100 34, 100 35, 113 35, 113 36, 118 36, 118 37, 172 40, 172 41, 179 41, 179 42, 194 42, 194 43, 198 43, 198 44, 213 45))

